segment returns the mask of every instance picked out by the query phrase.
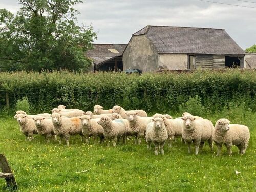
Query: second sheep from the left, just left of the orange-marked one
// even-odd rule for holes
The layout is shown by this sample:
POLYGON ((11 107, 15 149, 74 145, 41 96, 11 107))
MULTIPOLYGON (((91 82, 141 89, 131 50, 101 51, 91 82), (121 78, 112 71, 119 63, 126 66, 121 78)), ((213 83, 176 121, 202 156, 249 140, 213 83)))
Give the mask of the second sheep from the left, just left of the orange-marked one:
POLYGON ((54 134, 52 119, 46 119, 45 117, 38 116, 34 117, 37 133, 45 137, 47 143, 50 142, 50 138, 57 141, 56 135, 54 134))

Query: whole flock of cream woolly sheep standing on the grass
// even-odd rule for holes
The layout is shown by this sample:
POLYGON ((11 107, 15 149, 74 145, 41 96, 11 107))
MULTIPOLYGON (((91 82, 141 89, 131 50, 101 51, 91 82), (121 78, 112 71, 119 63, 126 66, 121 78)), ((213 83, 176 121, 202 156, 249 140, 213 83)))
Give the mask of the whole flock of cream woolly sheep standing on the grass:
POLYGON ((158 113, 147 117, 143 110, 125 111, 121 106, 103 110, 102 106, 95 105, 94 113, 65 108, 66 106, 59 105, 51 110, 52 114, 37 115, 17 111, 14 118, 19 123, 20 131, 29 141, 33 139, 33 134, 44 136, 47 142, 50 142, 51 138, 57 141, 56 136, 59 136, 59 142, 65 140, 69 146, 70 135, 79 134, 87 144, 90 137, 94 141, 99 137, 100 143, 106 140, 107 146, 111 143, 116 146, 119 143, 125 144, 127 137, 135 137, 134 144, 139 145, 141 139, 145 138, 148 150, 151 144, 154 144, 156 155, 159 151, 164 154, 165 143, 171 147, 177 137, 181 137, 182 142, 187 144, 188 153, 191 153, 191 142, 195 145, 197 155, 207 141, 211 151, 215 142, 218 148, 217 156, 221 153, 222 144, 227 147, 229 155, 232 154, 232 145, 236 145, 239 153, 243 155, 250 138, 247 126, 230 124, 227 119, 219 119, 214 127, 211 121, 187 112, 183 113, 182 117, 172 119, 170 115, 158 113))

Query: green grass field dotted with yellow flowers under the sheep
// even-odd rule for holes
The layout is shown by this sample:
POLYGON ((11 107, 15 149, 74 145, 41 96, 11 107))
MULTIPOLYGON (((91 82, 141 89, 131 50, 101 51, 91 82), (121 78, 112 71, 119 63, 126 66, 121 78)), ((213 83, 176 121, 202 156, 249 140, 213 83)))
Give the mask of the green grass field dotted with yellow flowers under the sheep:
MULTIPOLYGON (((214 124, 225 117, 247 125, 251 138, 244 156, 233 147, 230 157, 223 147, 216 157, 216 146, 212 153, 208 144, 198 156, 188 155, 180 140, 171 149, 165 146, 165 154, 158 156, 153 147, 147 151, 145 141, 135 146, 129 140, 116 148, 86 145, 79 136, 71 138, 70 147, 46 144, 41 136, 26 142, 16 120, 7 116, 0 118, 0 153, 6 155, 19 191, 255 191, 255 114, 225 113, 205 118, 214 124)), ((4 186, 1 179, 0 190, 4 186)))

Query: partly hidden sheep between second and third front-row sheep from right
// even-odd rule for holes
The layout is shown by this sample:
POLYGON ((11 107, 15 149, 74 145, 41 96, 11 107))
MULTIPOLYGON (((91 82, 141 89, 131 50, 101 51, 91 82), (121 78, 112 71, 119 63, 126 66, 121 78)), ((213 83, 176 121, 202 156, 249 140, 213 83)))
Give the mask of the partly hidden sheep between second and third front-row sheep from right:
MULTIPOLYGON (((176 137, 181 136, 182 127, 183 127, 183 120, 180 119, 167 119, 165 115, 156 113, 153 118, 160 117, 163 119, 165 128, 167 130, 168 134, 168 147, 172 147, 172 142, 175 141, 176 137)), ((184 140, 181 138, 181 141, 184 142, 184 140)))

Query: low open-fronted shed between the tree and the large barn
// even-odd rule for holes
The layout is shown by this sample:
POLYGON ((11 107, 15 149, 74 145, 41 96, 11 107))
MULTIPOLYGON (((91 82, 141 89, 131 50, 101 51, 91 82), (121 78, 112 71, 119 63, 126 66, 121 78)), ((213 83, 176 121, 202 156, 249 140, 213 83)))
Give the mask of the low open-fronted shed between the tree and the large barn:
POLYGON ((126 44, 93 44, 86 56, 93 60, 92 71, 123 70, 122 53, 126 44))

